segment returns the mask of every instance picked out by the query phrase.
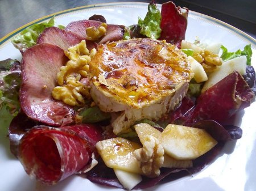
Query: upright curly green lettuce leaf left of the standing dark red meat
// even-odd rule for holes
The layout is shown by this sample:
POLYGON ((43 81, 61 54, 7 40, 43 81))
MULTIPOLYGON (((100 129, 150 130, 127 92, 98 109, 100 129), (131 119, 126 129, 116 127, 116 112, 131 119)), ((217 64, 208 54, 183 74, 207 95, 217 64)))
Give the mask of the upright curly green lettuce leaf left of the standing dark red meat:
POLYGON ((151 39, 158 39, 161 35, 161 12, 155 3, 150 3, 147 8, 148 12, 144 20, 139 18, 138 26, 141 27, 141 34, 151 39))

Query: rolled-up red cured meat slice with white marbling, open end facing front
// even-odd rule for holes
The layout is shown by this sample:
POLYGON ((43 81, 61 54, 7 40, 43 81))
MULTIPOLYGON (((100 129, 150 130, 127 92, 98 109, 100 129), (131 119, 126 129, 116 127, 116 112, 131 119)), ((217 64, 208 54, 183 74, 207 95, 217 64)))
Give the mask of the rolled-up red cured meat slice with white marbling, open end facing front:
POLYGON ((101 139, 101 128, 91 124, 35 126, 20 140, 18 158, 30 177, 53 185, 83 170, 101 139))

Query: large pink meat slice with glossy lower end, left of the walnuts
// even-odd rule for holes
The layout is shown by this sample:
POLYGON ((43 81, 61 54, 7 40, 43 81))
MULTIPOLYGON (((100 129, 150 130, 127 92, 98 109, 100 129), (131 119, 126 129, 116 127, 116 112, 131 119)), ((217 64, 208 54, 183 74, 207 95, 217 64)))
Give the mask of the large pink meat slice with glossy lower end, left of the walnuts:
POLYGON ((20 107, 28 117, 52 126, 71 123, 75 111, 51 93, 60 67, 68 61, 63 49, 47 43, 28 48, 23 54, 20 107))

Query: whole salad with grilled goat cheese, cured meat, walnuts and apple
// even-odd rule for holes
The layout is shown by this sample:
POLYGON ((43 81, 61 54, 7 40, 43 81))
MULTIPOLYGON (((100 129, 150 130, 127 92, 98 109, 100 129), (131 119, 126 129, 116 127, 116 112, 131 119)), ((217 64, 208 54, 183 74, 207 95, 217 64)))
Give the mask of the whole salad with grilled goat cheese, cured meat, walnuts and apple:
POLYGON ((22 61, 1 61, 1 109, 15 116, 11 151, 28 175, 49 185, 79 173, 103 185, 148 188, 200 171, 226 141, 241 138, 226 120, 254 101, 250 45, 229 52, 184 41, 187 14, 152 1, 134 26, 94 15, 53 27, 52 18, 13 39, 22 61), (120 54, 139 57, 117 68, 120 54), (141 62, 152 77, 147 86, 136 76, 141 62))

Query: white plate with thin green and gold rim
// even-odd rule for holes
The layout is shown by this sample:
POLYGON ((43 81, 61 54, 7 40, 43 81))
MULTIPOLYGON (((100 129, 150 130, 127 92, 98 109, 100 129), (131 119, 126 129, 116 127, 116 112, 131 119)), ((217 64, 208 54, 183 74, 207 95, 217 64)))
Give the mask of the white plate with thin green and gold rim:
MULTIPOLYGON (((160 6, 159 6, 160 8, 160 6)), ((57 12, 56 24, 67 26, 71 21, 88 19, 93 14, 104 15, 108 23, 123 24, 129 26, 138 22, 138 16, 144 18, 147 12, 147 3, 108 3, 96 6, 84 6, 71 10, 57 12)), ((35 20, 42 22, 52 15, 35 20)), ((29 23, 29 24, 32 24, 29 23)), ((11 37, 22 31, 26 26, 16 29, 14 32, 0 39, 0 60, 21 56, 18 50, 11 44, 11 37)), ((242 31, 209 16, 190 11, 186 39, 193 41, 198 36, 201 41, 221 42, 228 50, 243 49, 251 44, 253 49, 252 63, 256 69, 256 41, 242 31)), ((147 190, 246 190, 256 189, 256 104, 241 111, 237 116, 236 124, 243 129, 243 137, 237 142, 226 144, 221 156, 212 164, 204 168, 196 175, 160 184, 147 190), (242 116, 242 117, 241 117, 242 116)), ((24 172, 22 165, 11 155, 9 140, 6 137, 7 128, 4 116, 0 116, 0 190, 1 191, 84 191, 84 190, 119 190, 93 184, 89 180, 79 176, 72 176, 59 182, 55 186, 45 186, 35 180, 30 180, 24 172), (4 132, 4 133, 3 133, 4 132)))

